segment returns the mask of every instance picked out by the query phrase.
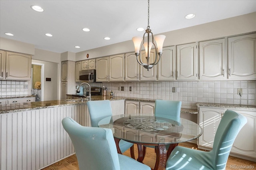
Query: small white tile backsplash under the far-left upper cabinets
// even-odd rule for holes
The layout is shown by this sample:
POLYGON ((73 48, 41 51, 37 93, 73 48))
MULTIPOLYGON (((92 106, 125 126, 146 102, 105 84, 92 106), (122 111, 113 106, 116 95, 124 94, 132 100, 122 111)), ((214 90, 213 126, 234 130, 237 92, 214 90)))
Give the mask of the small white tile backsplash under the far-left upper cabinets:
POLYGON ((28 81, 0 81, 0 96, 7 95, 28 95, 28 89, 24 89, 28 81))

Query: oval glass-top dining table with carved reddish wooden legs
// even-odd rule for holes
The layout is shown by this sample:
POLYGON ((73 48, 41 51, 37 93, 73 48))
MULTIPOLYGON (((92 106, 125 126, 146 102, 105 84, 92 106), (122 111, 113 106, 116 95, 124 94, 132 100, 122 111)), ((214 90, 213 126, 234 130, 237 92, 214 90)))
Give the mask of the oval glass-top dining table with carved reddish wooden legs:
MULTIPOLYGON (((167 119, 166 115, 132 114, 106 117, 98 123, 101 128, 110 128, 116 142, 118 153, 119 141, 126 140, 137 144, 138 161, 142 162, 146 153, 143 145, 155 146, 156 164, 154 170, 164 170, 170 153, 181 142, 198 138, 203 130, 198 124, 180 118, 180 122, 167 119), (170 144, 168 151, 166 145, 170 144)), ((132 156, 134 158, 134 155, 132 156)))

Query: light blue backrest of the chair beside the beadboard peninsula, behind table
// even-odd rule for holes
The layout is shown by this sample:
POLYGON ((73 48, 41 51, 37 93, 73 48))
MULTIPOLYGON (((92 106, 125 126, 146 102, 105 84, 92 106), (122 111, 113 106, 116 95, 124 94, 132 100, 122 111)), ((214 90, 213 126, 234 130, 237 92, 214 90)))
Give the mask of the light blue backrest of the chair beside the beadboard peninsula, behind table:
POLYGON ((112 116, 109 100, 88 101, 86 104, 89 110, 92 127, 98 127, 100 120, 112 116))

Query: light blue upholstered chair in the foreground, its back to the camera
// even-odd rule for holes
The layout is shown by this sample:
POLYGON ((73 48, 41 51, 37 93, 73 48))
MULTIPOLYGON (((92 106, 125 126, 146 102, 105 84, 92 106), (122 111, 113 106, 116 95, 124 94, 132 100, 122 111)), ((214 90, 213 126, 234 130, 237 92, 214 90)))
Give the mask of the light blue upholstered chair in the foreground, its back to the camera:
POLYGON ((117 153, 111 129, 84 127, 70 117, 65 117, 62 125, 72 140, 80 170, 151 170, 117 153))

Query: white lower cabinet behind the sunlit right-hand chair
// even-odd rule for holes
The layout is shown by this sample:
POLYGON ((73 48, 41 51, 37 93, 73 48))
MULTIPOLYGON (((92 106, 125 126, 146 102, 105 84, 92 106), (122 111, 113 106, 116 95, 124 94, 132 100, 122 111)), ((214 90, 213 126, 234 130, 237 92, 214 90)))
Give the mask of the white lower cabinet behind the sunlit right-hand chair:
POLYGON ((199 107, 198 123, 203 128, 203 134, 198 138, 198 148, 211 150, 216 130, 226 110, 232 110, 247 119, 246 125, 240 130, 232 149, 231 154, 240 155, 241 158, 256 158, 256 111, 246 109, 227 109, 218 107, 199 107), (244 157, 245 156, 245 157, 244 157))

